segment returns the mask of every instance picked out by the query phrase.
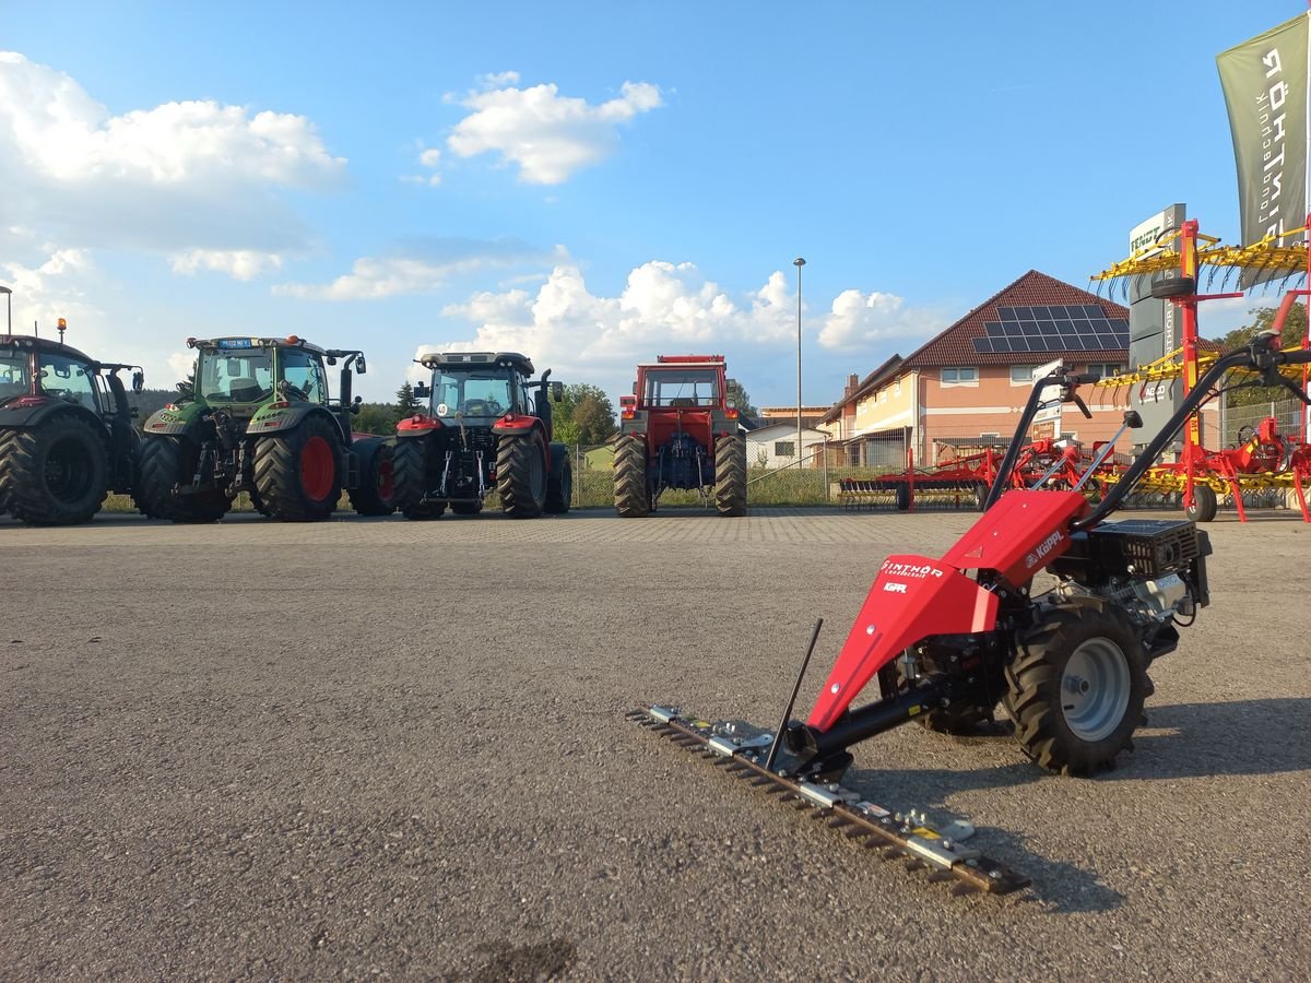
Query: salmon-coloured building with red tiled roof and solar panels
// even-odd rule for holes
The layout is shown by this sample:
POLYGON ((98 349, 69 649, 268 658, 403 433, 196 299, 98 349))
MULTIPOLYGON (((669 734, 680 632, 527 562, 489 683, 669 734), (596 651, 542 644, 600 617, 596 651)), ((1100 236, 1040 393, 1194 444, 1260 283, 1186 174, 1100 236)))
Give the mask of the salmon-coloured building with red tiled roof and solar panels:
MULTIPOLYGON (((893 357, 847 392, 821 427, 847 463, 905 467, 1009 440, 1033 388, 1034 370, 1062 359, 1076 372, 1124 371, 1129 311, 1029 270, 906 358, 893 357)), ((1086 419, 1066 406, 1059 434, 1088 447, 1109 439, 1124 415, 1124 391, 1086 387, 1086 419)), ((1126 448, 1127 450, 1127 448, 1126 448)))

